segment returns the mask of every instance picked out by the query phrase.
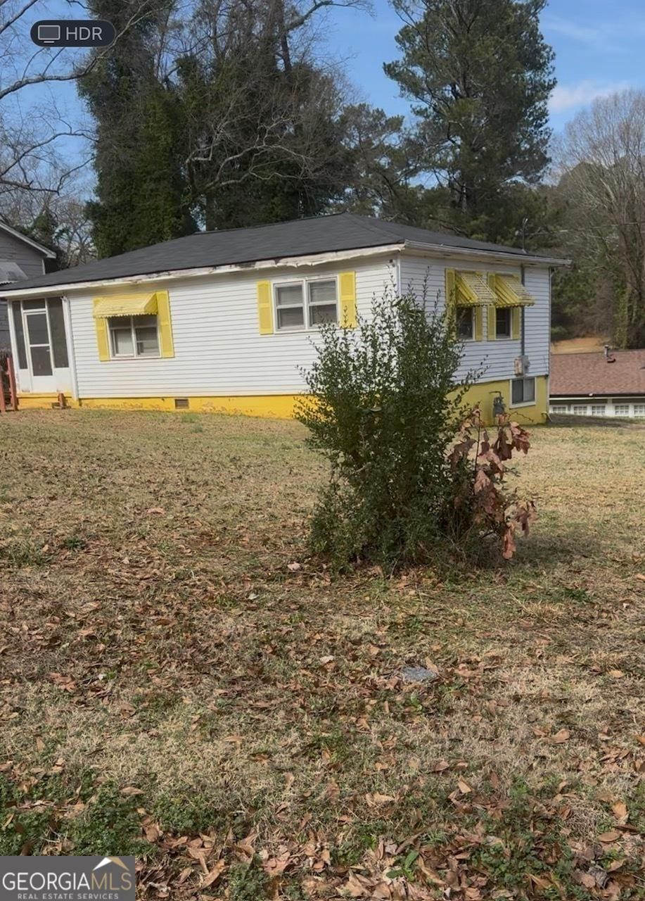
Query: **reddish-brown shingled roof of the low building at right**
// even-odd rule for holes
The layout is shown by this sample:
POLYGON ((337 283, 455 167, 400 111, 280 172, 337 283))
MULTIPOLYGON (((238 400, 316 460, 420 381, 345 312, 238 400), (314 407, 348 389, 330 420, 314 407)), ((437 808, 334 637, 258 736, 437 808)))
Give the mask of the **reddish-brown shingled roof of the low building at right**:
POLYGON ((645 395, 645 349, 559 353, 551 357, 550 396, 645 395))

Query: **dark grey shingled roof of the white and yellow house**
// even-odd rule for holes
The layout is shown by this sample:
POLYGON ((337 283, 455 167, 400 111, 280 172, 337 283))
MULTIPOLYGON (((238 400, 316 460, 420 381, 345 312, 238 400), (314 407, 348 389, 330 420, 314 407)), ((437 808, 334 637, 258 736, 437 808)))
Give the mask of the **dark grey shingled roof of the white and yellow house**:
POLYGON ((20 290, 152 275, 180 269, 254 263, 263 259, 298 257, 332 250, 359 250, 385 244, 404 244, 405 241, 440 244, 447 249, 496 250, 526 257, 524 251, 517 247, 471 241, 458 235, 427 232, 411 225, 341 213, 296 219, 288 223, 256 225, 253 228, 196 232, 186 238, 163 241, 116 257, 97 259, 76 268, 29 278, 21 281, 20 290))

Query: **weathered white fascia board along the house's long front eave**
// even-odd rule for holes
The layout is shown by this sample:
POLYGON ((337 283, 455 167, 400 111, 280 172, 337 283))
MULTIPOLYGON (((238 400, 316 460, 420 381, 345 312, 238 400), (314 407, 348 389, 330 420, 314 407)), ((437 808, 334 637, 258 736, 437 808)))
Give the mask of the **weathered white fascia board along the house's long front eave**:
POLYGON ((204 276, 229 275, 239 272, 257 272, 264 269, 278 267, 301 268, 306 266, 323 266, 325 263, 344 262, 349 259, 363 259, 366 257, 381 257, 387 254, 400 253, 403 250, 401 244, 384 244, 379 247, 363 248, 361 250, 332 250, 328 253, 315 253, 303 257, 279 257, 277 259, 260 259, 255 263, 236 263, 228 266, 204 266, 193 269, 173 269, 168 272, 152 272, 141 276, 123 276, 123 278, 102 278, 96 281, 71 282, 63 285, 43 285, 41 287, 24 288, 15 287, 14 290, 4 291, 0 288, 0 297, 41 297, 51 294, 70 294, 74 291, 95 291, 102 287, 123 287, 148 285, 151 282, 173 282, 181 278, 204 278, 204 276))

